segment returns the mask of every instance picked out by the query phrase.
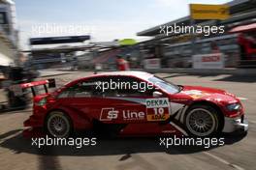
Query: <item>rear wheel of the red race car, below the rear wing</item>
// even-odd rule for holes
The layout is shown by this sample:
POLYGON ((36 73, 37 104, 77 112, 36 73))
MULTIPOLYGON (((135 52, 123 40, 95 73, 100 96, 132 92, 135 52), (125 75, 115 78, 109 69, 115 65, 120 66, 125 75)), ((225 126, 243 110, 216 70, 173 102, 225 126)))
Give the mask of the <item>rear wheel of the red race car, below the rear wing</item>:
POLYGON ((61 111, 52 111, 48 114, 46 128, 49 135, 59 138, 67 138, 73 131, 70 117, 61 111))

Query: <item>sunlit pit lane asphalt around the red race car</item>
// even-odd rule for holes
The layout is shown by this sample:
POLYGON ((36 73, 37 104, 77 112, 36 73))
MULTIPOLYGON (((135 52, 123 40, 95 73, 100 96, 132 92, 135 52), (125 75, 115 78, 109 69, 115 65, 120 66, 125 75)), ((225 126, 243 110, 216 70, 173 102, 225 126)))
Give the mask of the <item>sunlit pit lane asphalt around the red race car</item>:
MULTIPOLYGON (((55 76, 57 84, 90 74, 70 72, 55 76)), ((208 150, 159 146, 158 138, 98 139, 94 147, 37 149, 21 135, 22 122, 31 108, 0 115, 0 170, 6 169, 256 169, 256 77, 158 73, 177 84, 225 89, 242 99, 249 131, 245 137, 227 135, 226 144, 208 150)), ((43 78, 44 79, 44 78, 43 78)))

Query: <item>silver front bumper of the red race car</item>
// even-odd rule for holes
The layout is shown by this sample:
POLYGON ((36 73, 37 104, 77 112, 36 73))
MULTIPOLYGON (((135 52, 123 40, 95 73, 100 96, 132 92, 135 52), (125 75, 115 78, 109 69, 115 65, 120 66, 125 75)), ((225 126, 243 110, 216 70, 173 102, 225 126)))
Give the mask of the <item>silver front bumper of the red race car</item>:
POLYGON ((247 131, 248 130, 248 121, 244 118, 244 115, 237 118, 228 118, 225 117, 225 123, 223 132, 234 132, 237 130, 247 131))

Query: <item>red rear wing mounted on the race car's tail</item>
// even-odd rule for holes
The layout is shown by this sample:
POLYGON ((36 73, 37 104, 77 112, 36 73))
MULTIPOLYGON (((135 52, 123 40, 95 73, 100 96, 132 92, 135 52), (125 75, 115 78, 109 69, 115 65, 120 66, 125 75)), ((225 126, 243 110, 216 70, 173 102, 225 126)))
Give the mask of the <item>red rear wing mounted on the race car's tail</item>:
POLYGON ((21 96, 24 94, 25 89, 30 88, 33 97, 35 97, 37 95, 35 90, 36 86, 44 86, 45 92, 48 93, 48 88, 56 87, 55 79, 50 78, 48 80, 40 80, 40 81, 32 81, 29 83, 16 84, 16 85, 10 86, 9 89, 15 93, 15 96, 21 96))

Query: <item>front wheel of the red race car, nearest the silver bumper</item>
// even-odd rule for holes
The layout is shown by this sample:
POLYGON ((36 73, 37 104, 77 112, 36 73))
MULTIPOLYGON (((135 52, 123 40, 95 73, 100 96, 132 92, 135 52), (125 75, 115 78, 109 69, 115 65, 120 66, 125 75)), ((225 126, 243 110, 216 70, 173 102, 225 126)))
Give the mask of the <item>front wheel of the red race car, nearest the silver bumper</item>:
POLYGON ((195 137, 214 136, 221 128, 218 111, 207 104, 191 106, 186 112, 184 123, 188 134, 195 137))

